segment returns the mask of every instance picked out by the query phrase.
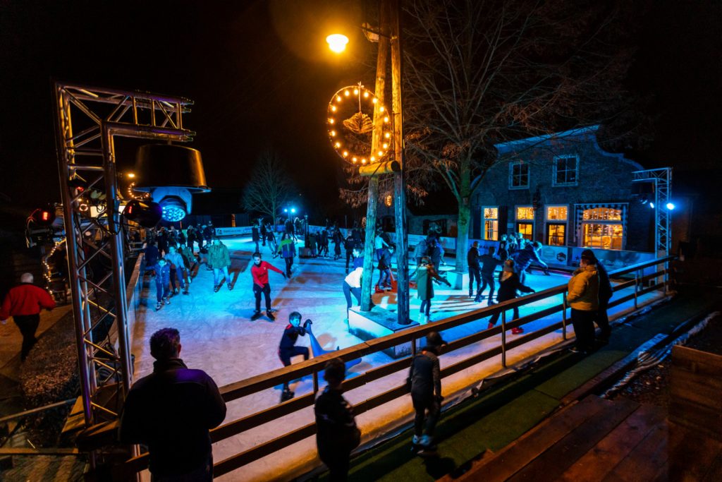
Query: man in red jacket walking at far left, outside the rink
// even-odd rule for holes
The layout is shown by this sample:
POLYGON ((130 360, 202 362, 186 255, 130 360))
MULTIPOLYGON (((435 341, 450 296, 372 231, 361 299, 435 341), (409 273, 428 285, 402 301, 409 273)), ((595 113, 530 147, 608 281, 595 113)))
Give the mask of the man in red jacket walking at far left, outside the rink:
POLYGON ((0 319, 3 323, 8 317, 12 317, 12 321, 22 333, 20 361, 25 361, 30 348, 38 341, 35 338, 35 331, 38 330, 40 310, 43 308, 50 311, 55 308, 55 301, 43 288, 32 284, 32 274, 23 273, 20 276, 20 284, 7 293, 0 309, 0 319))

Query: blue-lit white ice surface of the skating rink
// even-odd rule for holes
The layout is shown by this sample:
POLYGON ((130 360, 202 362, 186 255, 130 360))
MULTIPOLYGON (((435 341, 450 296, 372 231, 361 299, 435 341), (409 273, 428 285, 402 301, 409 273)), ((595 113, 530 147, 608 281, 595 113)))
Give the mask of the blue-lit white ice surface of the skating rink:
MULTIPOLYGON (((361 340, 349 334, 344 322, 346 318, 346 301, 342 292, 342 283, 344 280, 345 257, 335 261, 325 258, 299 259, 297 257, 290 280, 284 280, 282 275, 269 271, 271 301, 273 308, 277 310, 275 313, 276 320, 271 322, 267 317, 262 316, 256 321, 251 321, 251 316, 255 310, 253 281, 251 279, 251 254, 255 250, 255 245, 251 243, 250 238, 225 238, 223 242, 228 246, 231 253, 230 276, 233 284, 232 291, 229 291, 227 286, 224 285, 220 291, 214 293, 213 272, 206 270, 206 266, 202 264, 193 279, 193 283, 190 285, 190 294, 188 296, 181 294, 173 296, 170 299, 170 305, 165 305, 160 311, 155 311, 155 283, 147 283, 148 287, 143 291, 147 305, 142 307, 136 324, 134 324, 132 334, 132 350, 136 356, 135 379, 152 371, 153 359, 149 353, 148 340, 153 332, 164 327, 175 327, 181 332, 181 344, 183 345, 181 358, 183 358, 183 361, 191 368, 206 371, 213 377, 219 387, 282 367, 277 354, 278 344, 288 323, 289 314, 292 311, 300 311, 303 319, 310 318, 313 320, 313 332, 318 339, 318 343, 326 350, 333 350, 336 347, 347 348, 361 343, 361 340)), ((299 244, 302 243, 303 241, 300 241, 299 244)), ((271 258, 268 246, 261 246, 261 253, 264 255, 264 260, 274 264, 279 270, 285 269, 282 258, 271 258)), ((447 261, 450 266, 453 266, 453 259, 447 259, 447 261)), ((375 283, 378 277, 377 271, 374 272, 374 276, 375 283)), ((544 276, 539 273, 527 275, 526 284, 536 291, 541 291, 566 284, 567 280, 567 275, 544 276)), ((483 297, 484 302, 482 304, 474 303, 473 298, 467 296, 467 287, 468 283, 466 281, 464 289, 461 291, 446 287, 435 287, 435 298, 433 299, 431 313, 432 322, 487 306, 485 301, 487 296, 483 297)), ((622 294, 619 293, 617 296, 622 296, 622 294)), ((373 296, 373 301, 384 308, 396 309, 395 293, 376 293, 373 296)), ((523 306, 521 315, 560 304, 561 301, 561 296, 557 296, 538 301, 529 306, 523 306)), ((420 301, 415 290, 411 291, 410 306, 412 319, 419 320, 420 301)), ((262 299, 261 310, 264 311, 264 308, 262 299)), ((629 304, 623 304, 610 311, 615 312, 628 308, 629 304)), ((263 314, 265 315, 265 311, 263 314)), ((557 317, 559 316, 557 314, 557 317)), ((527 332, 536 330, 547 326, 549 322, 551 322, 551 318, 540 319, 525 325, 525 330, 527 332)), ((487 324, 488 318, 480 319, 477 322, 447 330, 443 332, 443 336, 446 340, 456 340, 484 330, 487 324)), ((571 327, 569 333, 570 336, 573 333, 571 327)), ((508 333, 507 336, 512 335, 508 333)), ((507 354, 507 361, 508 363, 514 363, 514 361, 531 356, 535 351, 559 342, 562 339, 561 337, 560 331, 539 337, 532 343, 510 350, 507 354)), ((470 353, 479 353, 479 351, 490 349, 499 343, 500 335, 497 335, 461 350, 442 355, 440 357, 442 366, 456 363, 456 361, 468 357, 470 353)), ((297 344, 310 345, 308 337, 299 337, 297 344)), ((302 360, 302 357, 297 357, 293 361, 297 363, 302 360)), ((363 373, 390 361, 391 358, 383 353, 365 356, 361 363, 352 367, 348 376, 363 373)), ((469 386, 471 382, 479 380, 498 369, 500 369, 500 361, 497 357, 480 363, 479 366, 472 369, 461 371, 448 377, 448 379, 444 379, 444 393, 461 390, 469 386)), ((347 392, 345 396, 351 403, 359 403, 381 391, 398 386, 403 383, 405 377, 405 372, 398 372, 377 382, 347 392)), ((295 392, 296 396, 304 395, 313 390, 312 379, 307 376, 292 383, 290 388, 295 392)), ((279 403, 281 393, 282 386, 279 385, 273 389, 231 401, 227 404, 228 414, 225 423, 279 403)), ((380 408, 362 414, 362 416, 358 417, 358 422, 365 434, 373 434, 376 431, 383 430, 383 427, 387 426, 390 421, 408 418, 411 412, 412 407, 409 400, 394 400, 380 408)), ((313 410, 308 408, 285 416, 274 423, 268 423, 256 429, 245 431, 231 439, 214 444, 214 460, 223 460, 238 452, 243 452, 245 449, 266 442, 274 436, 282 435, 290 429, 303 426, 311 421, 313 421, 313 410)), ((287 464, 287 468, 292 468, 294 465, 308 467, 310 463, 313 463, 315 457, 315 444, 313 440, 307 439, 288 447, 284 451, 284 464, 287 464)), ((225 475, 222 479, 227 481, 266 481, 275 480, 278 475, 277 458, 264 457, 264 459, 257 460, 235 473, 225 475), (243 476, 239 475, 240 472, 243 472, 243 476)))

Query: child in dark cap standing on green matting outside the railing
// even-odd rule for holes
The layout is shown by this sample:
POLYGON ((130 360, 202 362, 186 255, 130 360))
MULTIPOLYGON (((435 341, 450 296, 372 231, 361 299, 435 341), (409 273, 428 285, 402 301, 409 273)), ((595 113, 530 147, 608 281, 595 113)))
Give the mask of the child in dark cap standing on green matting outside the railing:
POLYGON ((441 347, 447 344, 438 332, 429 332, 426 335, 426 346, 411 362, 406 384, 411 390, 411 400, 416 410, 412 439, 414 445, 430 447, 433 442, 434 429, 439 420, 441 400, 443 400, 438 357, 441 347), (426 419, 425 427, 424 419, 426 419))

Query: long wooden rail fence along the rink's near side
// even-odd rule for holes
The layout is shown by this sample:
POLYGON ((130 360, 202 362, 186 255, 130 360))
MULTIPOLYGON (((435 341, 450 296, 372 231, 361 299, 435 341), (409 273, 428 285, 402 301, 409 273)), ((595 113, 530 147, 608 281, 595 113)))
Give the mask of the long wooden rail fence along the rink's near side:
MULTIPOLYGON (((669 288, 670 275, 669 262, 671 262, 671 260, 673 259, 674 257, 653 259, 648 262, 634 264, 620 270, 614 270, 612 272, 609 272, 610 280, 621 277, 622 275, 633 275, 630 280, 613 284, 613 293, 623 290, 625 288, 630 288, 632 286, 635 288, 634 293, 630 293, 629 295, 622 296, 622 298, 617 298, 613 299, 613 301, 610 301, 609 308, 633 299, 635 301, 635 309, 637 309, 638 298, 640 296, 646 293, 651 293, 652 291, 662 289, 664 290, 664 293, 667 293, 669 288), (658 264, 664 264, 664 267, 661 270, 656 270, 654 272, 645 274, 647 268, 656 267, 658 266, 658 264), (645 284, 652 280, 660 279, 661 282, 645 286, 645 284), (642 286, 643 288, 640 288, 640 286, 642 286)), ((342 361, 352 361, 356 358, 360 358, 371 353, 377 353, 386 348, 393 347, 394 345, 409 342, 412 343, 413 356, 413 353, 416 353, 417 340, 425 337, 427 333, 432 331, 443 332, 443 330, 449 330, 453 327, 458 327, 466 323, 477 322, 480 319, 490 317, 491 315, 499 312, 501 313, 500 325, 497 325, 490 330, 480 330, 479 332, 472 335, 467 335, 466 337, 454 340, 453 342, 448 343, 448 346, 444 348, 444 353, 449 353, 453 350, 464 348, 468 345, 471 345, 472 343, 477 343, 489 337, 499 335, 500 333, 502 335, 501 344, 494 348, 490 348, 489 350, 485 350, 481 353, 470 356, 469 358, 465 358, 462 361, 458 361, 451 366, 445 366, 441 370, 441 377, 444 378, 446 376, 456 374, 459 371, 468 369, 471 366, 477 365, 478 363, 482 363, 483 361, 487 361, 488 359, 494 358, 495 356, 499 355, 501 355, 502 358, 502 366, 506 367, 505 354, 510 349, 517 348, 518 346, 529 343, 532 340, 536 340, 536 338, 542 337, 556 330, 562 330, 562 338, 564 340, 567 339, 567 326, 568 324, 570 324, 570 317, 567 315, 567 311, 569 311, 570 308, 569 306, 567 306, 566 303, 566 293, 566 284, 554 288, 548 288, 544 291, 538 291, 530 295, 522 296, 521 298, 503 301, 502 303, 495 304, 493 306, 487 306, 486 308, 469 311, 464 314, 458 314, 453 317, 439 320, 438 322, 412 327, 409 328, 409 330, 397 332, 393 335, 380 337, 375 340, 369 340, 365 343, 360 343, 358 345, 344 348, 342 350, 337 350, 331 353, 325 353, 321 356, 311 358, 308 361, 296 363, 282 369, 269 371, 266 374, 252 376, 248 379, 241 380, 240 382, 227 384, 223 387, 220 387, 219 390, 223 399, 226 402, 230 402, 231 400, 237 400, 241 397, 253 395, 256 392, 260 392, 261 390, 276 387, 283 382, 290 382, 294 379, 299 379, 307 375, 313 376, 313 387, 318 387, 318 374, 323 371, 323 366, 326 364, 326 361, 329 361, 332 358, 341 358, 342 361), (520 317, 518 319, 507 322, 506 311, 513 309, 515 306, 525 306, 534 303, 535 301, 540 301, 549 298, 550 296, 558 295, 562 295, 562 303, 555 306, 550 306, 546 309, 535 311, 534 313, 528 314, 524 317, 520 317), (549 324, 547 325, 547 327, 542 327, 539 330, 535 330, 534 332, 530 332, 526 335, 515 335, 515 337, 511 341, 506 340, 506 332, 508 330, 511 330, 514 327, 520 327, 523 324, 535 321, 536 319, 547 317, 557 312, 562 313, 562 319, 560 320, 560 322, 549 324)), ((353 390, 355 388, 361 387, 364 384, 381 379, 383 378, 383 376, 387 376, 401 370, 409 369, 412 356, 407 356, 405 358, 400 358, 396 361, 391 361, 390 363, 386 363, 386 365, 376 367, 375 369, 370 369, 363 374, 359 374, 350 379, 344 380, 344 391, 353 390)), ((354 405, 354 414, 356 416, 360 415, 361 413, 365 413, 368 410, 377 408, 380 405, 390 402, 391 400, 396 400, 396 398, 407 395, 408 393, 409 388, 406 386, 406 384, 393 387, 391 388, 391 390, 381 392, 378 395, 374 395, 373 397, 367 398, 366 400, 363 400, 362 402, 354 405)), ((266 408, 265 410, 261 410, 257 413, 253 413, 249 416, 239 418, 238 420, 224 423, 222 426, 219 426, 211 431, 212 442, 219 442, 231 436, 243 433, 244 431, 254 429, 258 426, 263 425, 264 423, 275 421, 279 417, 286 416, 298 410, 313 406, 315 398, 316 393, 311 392, 300 397, 295 397, 292 400, 288 400, 287 402, 280 403, 279 405, 274 405, 273 407, 266 408)), ((254 460, 258 460, 261 457, 265 457, 266 455, 270 455, 271 453, 277 452, 280 449, 284 449, 291 444, 300 442, 301 440, 306 439, 309 436, 313 436, 314 434, 316 434, 316 423, 308 423, 307 425, 292 430, 287 434, 277 436, 276 438, 271 439, 267 442, 257 444, 256 446, 251 447, 244 452, 240 452, 236 455, 232 455, 231 457, 227 457, 225 460, 220 460, 219 462, 216 462, 213 469, 214 477, 230 473, 232 470, 236 470, 240 467, 243 467, 243 465, 247 465, 248 463, 253 462, 254 460)), ((143 454, 139 455, 138 457, 133 457, 130 460, 124 462, 120 470, 123 475, 131 475, 133 473, 139 472, 140 470, 144 470, 145 468, 147 468, 147 465, 148 455, 143 454)))

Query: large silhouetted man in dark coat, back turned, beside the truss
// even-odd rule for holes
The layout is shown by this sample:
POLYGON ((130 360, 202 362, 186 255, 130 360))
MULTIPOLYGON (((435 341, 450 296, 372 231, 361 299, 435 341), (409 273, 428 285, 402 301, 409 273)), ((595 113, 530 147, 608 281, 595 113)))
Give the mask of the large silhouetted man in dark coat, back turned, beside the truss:
POLYGON ((148 446, 150 473, 157 481, 212 481, 210 429, 219 426, 226 405, 216 383, 181 358, 181 335, 163 328, 150 337, 153 373, 133 384, 121 413, 118 436, 148 446))

